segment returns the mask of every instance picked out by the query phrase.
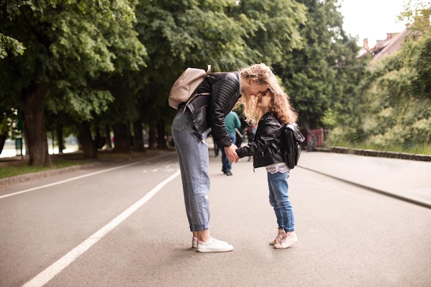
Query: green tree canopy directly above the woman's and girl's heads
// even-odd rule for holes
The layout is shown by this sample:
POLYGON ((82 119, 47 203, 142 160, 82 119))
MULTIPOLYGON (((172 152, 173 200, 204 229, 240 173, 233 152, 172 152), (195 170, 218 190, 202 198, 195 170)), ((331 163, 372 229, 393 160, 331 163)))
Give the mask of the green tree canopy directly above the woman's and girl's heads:
POLYGON ((141 1, 136 15, 136 31, 149 54, 142 70, 147 84, 139 95, 141 120, 160 133, 165 131, 160 121, 170 123, 175 113, 167 105, 169 89, 185 68, 211 64, 220 72, 276 63, 301 46, 305 7, 282 0, 141 1))

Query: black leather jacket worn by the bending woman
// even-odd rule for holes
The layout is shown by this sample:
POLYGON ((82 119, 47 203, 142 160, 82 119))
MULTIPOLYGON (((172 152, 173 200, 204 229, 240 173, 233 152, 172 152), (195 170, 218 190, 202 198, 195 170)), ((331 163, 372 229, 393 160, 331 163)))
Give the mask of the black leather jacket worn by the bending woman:
POLYGON ((191 111, 193 125, 200 135, 212 132, 218 147, 229 147, 231 139, 224 126, 224 118, 232 110, 241 96, 239 72, 222 72, 209 74, 196 92, 211 92, 211 95, 200 95, 187 109, 191 111))

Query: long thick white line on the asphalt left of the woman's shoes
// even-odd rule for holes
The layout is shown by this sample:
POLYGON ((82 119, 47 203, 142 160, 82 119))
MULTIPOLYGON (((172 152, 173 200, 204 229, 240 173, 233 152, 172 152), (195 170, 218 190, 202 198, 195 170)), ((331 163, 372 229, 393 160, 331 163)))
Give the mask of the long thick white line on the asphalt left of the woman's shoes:
MULTIPOLYGON (((130 164, 131 165, 131 164, 130 164)), ((124 167, 124 166, 123 166, 124 167)), ((169 176, 166 180, 160 182, 154 189, 151 189, 149 193, 147 193, 143 198, 135 202, 128 209, 123 211, 120 215, 118 215, 112 222, 109 222, 107 225, 103 226, 99 231, 91 235, 84 242, 76 246, 72 251, 61 257, 59 260, 54 262, 51 266, 43 270, 39 275, 36 275, 33 279, 25 283, 22 287, 41 287, 48 283, 52 278, 54 278, 57 274, 61 272, 64 268, 66 268, 69 264, 74 262, 76 258, 85 253, 93 244, 101 240, 101 238, 109 231, 112 231, 116 226, 118 226, 121 222, 123 222, 129 215, 132 215, 136 210, 143 206, 145 202, 147 202, 150 198, 152 198, 162 187, 164 187, 168 182, 176 178, 180 174, 180 171, 176 171, 172 176, 169 176)))

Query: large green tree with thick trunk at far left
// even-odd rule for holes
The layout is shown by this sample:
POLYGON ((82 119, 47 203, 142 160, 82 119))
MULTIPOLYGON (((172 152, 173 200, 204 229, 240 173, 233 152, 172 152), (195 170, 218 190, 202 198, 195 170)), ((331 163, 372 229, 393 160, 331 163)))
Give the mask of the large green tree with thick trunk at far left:
POLYGON ((13 55, 0 60, 0 99, 19 98, 30 164, 52 164, 47 106, 90 120, 113 100, 106 87, 95 85, 97 79, 127 62, 135 69, 143 65, 145 47, 132 29, 133 5, 123 0, 0 3, 0 33, 10 37, 9 46, 2 41, 3 56, 4 47, 13 44, 8 48, 13 55))

